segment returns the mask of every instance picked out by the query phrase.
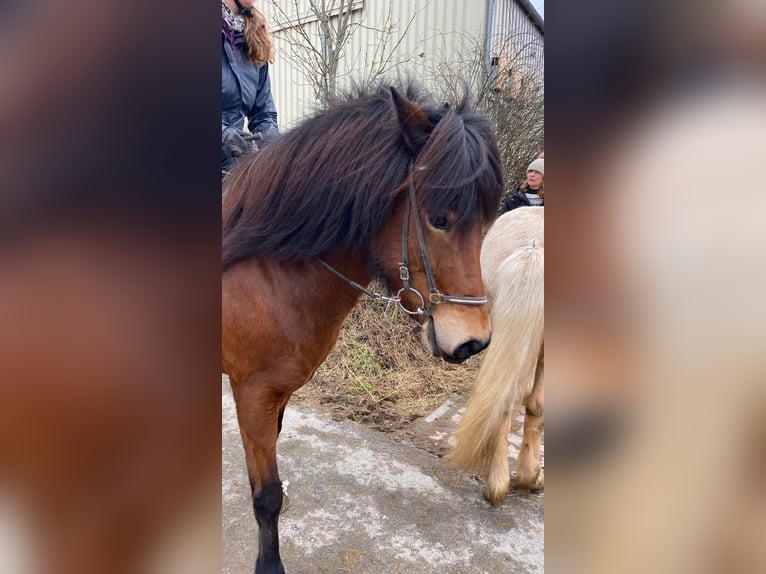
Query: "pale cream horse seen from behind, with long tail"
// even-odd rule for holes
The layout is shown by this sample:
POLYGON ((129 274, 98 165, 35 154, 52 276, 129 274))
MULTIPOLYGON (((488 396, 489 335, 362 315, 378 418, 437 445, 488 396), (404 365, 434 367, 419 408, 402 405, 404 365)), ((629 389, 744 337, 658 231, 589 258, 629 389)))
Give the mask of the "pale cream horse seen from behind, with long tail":
POLYGON ((510 488, 508 432, 520 404, 524 438, 516 465, 518 488, 543 487, 544 208, 524 207, 500 216, 481 249, 493 342, 456 431, 450 460, 478 472, 485 498, 505 501, 510 488))

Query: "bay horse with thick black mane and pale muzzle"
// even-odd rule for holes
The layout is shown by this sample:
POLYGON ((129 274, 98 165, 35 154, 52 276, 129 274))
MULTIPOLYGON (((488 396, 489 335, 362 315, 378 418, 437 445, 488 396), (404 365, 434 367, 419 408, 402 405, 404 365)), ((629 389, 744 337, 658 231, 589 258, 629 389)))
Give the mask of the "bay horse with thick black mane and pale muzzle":
POLYGON ((285 406, 360 293, 419 316, 421 341, 447 361, 489 343, 479 257, 502 190, 492 126, 466 101, 429 106, 413 86, 406 94, 338 102, 224 182, 222 368, 260 531, 259 574, 284 572, 276 447, 285 406), (368 291, 375 276, 397 294, 368 291))

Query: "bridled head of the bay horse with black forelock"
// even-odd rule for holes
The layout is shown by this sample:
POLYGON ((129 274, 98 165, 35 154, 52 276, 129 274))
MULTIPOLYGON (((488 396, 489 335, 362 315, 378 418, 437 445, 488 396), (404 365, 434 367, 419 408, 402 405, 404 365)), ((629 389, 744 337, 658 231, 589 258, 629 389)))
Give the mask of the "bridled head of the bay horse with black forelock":
POLYGON ((429 111, 393 89, 392 97, 412 160, 376 259, 401 287, 423 345, 459 363, 490 341, 479 261, 502 190, 499 152, 486 118, 465 103, 429 111))

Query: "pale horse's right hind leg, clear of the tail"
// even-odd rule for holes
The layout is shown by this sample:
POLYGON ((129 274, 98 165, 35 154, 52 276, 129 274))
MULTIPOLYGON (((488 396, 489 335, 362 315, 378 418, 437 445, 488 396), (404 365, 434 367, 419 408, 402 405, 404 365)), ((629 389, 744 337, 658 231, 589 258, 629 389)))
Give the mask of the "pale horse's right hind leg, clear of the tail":
POLYGON ((515 486, 525 490, 542 490, 544 473, 540 468, 540 440, 545 422, 543 397, 544 359, 537 363, 535 386, 526 400, 524 414, 524 437, 516 465, 515 486))

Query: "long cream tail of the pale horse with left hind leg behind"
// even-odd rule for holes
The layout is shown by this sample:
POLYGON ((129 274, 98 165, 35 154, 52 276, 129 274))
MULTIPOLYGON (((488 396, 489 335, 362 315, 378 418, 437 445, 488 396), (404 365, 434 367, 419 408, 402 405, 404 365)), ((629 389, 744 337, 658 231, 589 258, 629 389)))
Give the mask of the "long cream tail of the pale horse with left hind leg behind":
POLYGON ((519 404, 532 392, 544 333, 544 250, 532 243, 498 267, 490 301, 492 343, 482 361, 449 460, 487 480, 487 498, 508 492, 507 436, 519 404))

